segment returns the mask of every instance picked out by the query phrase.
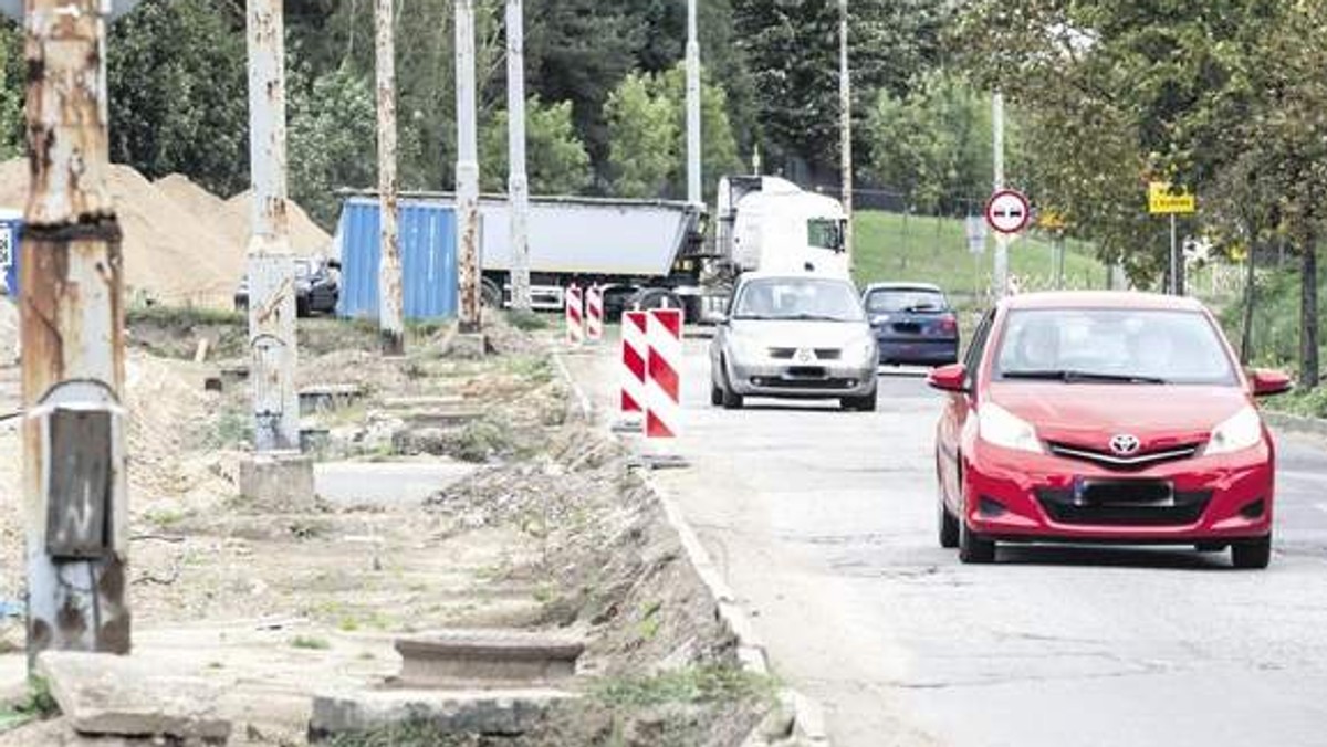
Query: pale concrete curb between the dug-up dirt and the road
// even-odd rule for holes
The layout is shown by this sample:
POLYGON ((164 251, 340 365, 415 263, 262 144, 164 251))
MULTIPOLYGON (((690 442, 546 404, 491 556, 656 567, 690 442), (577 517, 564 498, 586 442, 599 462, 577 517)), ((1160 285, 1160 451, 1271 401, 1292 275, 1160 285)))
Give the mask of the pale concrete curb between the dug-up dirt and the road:
MULTIPOLYGON (((568 370, 561 354, 556 350, 552 354, 557 364, 557 370, 561 373, 567 385, 572 389, 576 399, 580 402, 581 414, 584 415, 585 422, 593 423, 594 409, 589 397, 585 394, 580 382, 572 377, 571 370, 568 370)), ((609 438, 617 439, 620 443, 630 447, 624 438, 624 434, 613 433, 609 427, 605 427, 604 433, 609 438)), ((677 532, 687 561, 691 564, 691 568, 695 569, 697 576, 701 577, 701 582, 705 584, 710 597, 714 598, 719 622, 733 634, 734 638, 736 638, 738 661, 742 663, 742 669, 751 674, 768 677, 770 658, 766 653, 764 642, 760 641, 756 634, 755 626, 751 624, 751 618, 747 617, 746 612, 743 612, 742 606, 738 604, 738 597, 733 592, 733 588, 723 580, 719 567, 714 564, 709 551, 706 551, 705 545, 701 544, 701 537, 686 521, 686 517, 682 515, 682 509, 667 494, 667 491, 660 487, 660 484, 648 474, 641 475, 641 482, 654 495, 654 498, 658 499, 660 506, 664 507, 664 516, 673 531, 677 532)), ((786 713, 786 718, 791 716, 792 723, 790 732, 779 735, 776 738, 778 740, 771 742, 770 738, 760 734, 763 724, 756 726, 755 731, 747 738, 744 744, 752 747, 760 744, 829 746, 824 710, 820 707, 820 703, 790 687, 786 687, 779 693, 779 701, 780 707, 786 713)))

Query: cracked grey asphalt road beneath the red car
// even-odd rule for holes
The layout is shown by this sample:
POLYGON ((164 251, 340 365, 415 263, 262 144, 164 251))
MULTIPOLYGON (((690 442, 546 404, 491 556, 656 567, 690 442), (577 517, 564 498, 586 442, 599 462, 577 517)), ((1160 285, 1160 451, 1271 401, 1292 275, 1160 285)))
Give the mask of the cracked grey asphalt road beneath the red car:
MULTIPOLYGON (((689 341, 686 435, 660 474, 836 744, 1327 744, 1327 444, 1281 439, 1265 572, 1229 553, 936 543, 940 395, 889 374, 880 411, 709 406, 689 341)), ((577 357, 596 405, 608 354, 577 357)))

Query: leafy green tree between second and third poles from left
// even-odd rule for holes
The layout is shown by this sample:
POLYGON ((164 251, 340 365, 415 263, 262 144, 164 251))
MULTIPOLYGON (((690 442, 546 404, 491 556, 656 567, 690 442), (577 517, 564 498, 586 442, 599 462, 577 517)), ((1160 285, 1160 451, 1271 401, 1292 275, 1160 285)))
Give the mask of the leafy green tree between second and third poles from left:
POLYGON ((324 227, 336 224, 340 187, 377 183, 377 110, 373 85, 349 66, 311 84, 291 76, 289 182, 295 198, 324 227))

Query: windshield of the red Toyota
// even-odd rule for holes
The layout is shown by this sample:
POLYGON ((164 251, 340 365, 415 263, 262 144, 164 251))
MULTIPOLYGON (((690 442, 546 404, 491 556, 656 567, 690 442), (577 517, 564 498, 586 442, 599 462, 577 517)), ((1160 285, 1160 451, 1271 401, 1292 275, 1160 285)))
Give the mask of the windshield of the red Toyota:
POLYGON ((997 379, 1235 383, 1230 356, 1198 312, 1024 309, 1011 312, 997 379))

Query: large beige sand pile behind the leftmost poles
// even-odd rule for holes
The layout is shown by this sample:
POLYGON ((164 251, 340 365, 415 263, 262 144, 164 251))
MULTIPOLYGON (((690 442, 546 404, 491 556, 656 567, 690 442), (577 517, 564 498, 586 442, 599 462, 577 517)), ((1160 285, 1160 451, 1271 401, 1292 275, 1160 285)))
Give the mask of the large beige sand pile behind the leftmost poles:
MULTIPOLYGON (((248 202, 223 200, 171 175, 153 183, 127 166, 113 166, 110 191, 125 234, 125 285, 130 300, 230 306, 244 276, 248 202)), ((0 163, 0 207, 23 208, 28 198, 28 162, 0 163)), ((292 206, 296 252, 326 252, 330 239, 292 206)))

